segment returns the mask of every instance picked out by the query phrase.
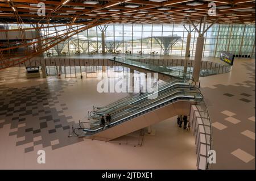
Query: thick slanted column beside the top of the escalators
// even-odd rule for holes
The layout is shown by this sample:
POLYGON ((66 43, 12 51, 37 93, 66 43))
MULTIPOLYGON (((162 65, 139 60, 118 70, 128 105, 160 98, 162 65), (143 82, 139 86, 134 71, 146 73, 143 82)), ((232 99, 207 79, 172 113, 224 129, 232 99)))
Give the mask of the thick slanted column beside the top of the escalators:
POLYGON ((204 37, 203 36, 197 37, 195 62, 194 62, 194 66, 193 66, 193 78, 196 82, 199 81, 203 49, 204 49, 204 37))

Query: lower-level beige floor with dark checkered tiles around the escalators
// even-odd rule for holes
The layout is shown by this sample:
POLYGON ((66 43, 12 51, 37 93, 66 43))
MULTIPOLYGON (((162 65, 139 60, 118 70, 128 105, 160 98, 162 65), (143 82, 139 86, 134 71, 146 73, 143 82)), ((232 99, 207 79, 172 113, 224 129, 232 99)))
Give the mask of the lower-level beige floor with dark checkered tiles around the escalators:
POLYGON ((68 137, 93 106, 127 96, 96 90, 97 78, 26 79, 24 69, 0 71, 0 169, 196 169, 195 138, 176 118, 104 142, 68 137), (121 144, 121 145, 119 145, 121 144), (46 164, 38 164, 38 150, 46 164))

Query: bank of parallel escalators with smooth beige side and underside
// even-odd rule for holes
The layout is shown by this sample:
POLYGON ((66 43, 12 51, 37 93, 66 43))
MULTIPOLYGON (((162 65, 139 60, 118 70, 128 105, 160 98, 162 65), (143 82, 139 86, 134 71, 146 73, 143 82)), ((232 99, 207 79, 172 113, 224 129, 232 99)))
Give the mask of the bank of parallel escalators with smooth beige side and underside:
POLYGON ((93 112, 93 119, 98 121, 92 127, 85 128, 81 122, 73 132, 78 137, 109 141, 176 115, 189 115, 191 104, 203 100, 191 83, 175 81, 161 85, 156 99, 147 99, 147 95, 134 95, 99 108, 93 112), (112 121, 102 128, 99 119, 106 113, 111 113, 112 121))

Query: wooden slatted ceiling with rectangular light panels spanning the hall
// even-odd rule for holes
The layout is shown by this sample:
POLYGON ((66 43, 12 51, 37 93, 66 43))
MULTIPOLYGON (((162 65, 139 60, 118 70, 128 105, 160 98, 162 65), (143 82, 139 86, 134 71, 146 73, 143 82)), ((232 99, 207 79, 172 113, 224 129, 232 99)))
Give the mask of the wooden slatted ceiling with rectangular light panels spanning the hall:
POLYGON ((87 24, 96 18, 111 23, 189 23, 187 17, 198 23, 205 15, 208 23, 218 17, 218 23, 255 23, 255 1, 249 0, 0 0, 0 23, 17 22, 15 11, 24 23, 87 24), (36 13, 40 2, 46 5, 46 16, 36 13), (216 16, 208 14, 210 2, 216 4, 216 16))

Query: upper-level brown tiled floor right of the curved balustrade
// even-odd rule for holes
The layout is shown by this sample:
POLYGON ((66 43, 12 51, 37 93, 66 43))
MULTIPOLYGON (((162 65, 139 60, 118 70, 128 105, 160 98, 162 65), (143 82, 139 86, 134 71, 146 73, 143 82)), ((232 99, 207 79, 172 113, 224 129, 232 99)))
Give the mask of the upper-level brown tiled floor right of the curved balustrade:
POLYGON ((235 58, 230 73, 200 80, 217 154, 212 169, 255 169, 255 60, 235 58))

